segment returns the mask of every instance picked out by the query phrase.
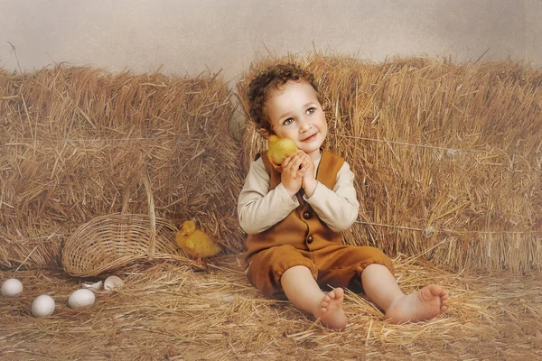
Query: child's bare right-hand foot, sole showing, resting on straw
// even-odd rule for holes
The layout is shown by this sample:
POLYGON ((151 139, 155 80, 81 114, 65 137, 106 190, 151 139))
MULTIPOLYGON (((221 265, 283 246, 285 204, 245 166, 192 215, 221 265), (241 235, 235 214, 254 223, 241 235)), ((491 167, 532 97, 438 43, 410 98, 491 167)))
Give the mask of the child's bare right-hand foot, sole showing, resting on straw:
POLYGON ((417 322, 432 319, 448 308, 448 293, 441 286, 430 284, 417 292, 394 300, 386 312, 391 323, 417 322))

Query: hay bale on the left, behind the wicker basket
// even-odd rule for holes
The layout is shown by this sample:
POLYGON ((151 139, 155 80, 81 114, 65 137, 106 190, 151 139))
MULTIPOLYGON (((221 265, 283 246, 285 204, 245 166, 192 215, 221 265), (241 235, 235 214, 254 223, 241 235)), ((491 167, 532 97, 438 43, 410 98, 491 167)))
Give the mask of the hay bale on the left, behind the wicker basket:
MULTIPOLYGON (((135 170, 148 169, 156 216, 196 218, 227 253, 242 247, 242 176, 219 79, 117 75, 57 66, 0 70, 0 265, 59 264, 61 242, 120 211, 135 170), (37 247, 37 248, 36 248, 37 247)), ((148 213, 145 190, 130 213, 148 213)))

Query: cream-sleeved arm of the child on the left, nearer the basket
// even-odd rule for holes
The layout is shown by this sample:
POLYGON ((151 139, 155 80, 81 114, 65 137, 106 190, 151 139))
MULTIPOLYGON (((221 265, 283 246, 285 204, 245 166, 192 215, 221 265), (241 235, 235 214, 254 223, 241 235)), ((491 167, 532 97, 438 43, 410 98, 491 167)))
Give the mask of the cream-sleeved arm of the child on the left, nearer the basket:
POLYGON ((299 201, 288 195, 282 183, 269 190, 269 175, 261 159, 250 164, 238 199, 239 224, 245 232, 249 235, 263 232, 298 206, 299 201))

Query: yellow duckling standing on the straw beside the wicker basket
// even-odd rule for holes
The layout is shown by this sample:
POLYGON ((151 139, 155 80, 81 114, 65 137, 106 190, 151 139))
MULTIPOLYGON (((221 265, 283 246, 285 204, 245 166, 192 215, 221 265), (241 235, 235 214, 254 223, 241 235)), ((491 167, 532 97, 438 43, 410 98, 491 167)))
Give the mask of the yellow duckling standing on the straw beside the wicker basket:
POLYGON ((175 235, 175 241, 187 254, 197 257, 196 263, 199 265, 202 257, 210 257, 220 252, 217 241, 201 229, 197 229, 192 220, 182 223, 181 230, 175 235))

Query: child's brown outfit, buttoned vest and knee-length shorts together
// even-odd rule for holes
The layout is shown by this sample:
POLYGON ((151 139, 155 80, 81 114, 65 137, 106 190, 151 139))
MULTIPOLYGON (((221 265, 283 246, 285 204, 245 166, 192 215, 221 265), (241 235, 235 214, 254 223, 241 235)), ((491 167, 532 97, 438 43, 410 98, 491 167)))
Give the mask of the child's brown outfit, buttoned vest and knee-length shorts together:
MULTIPOLYGON (((269 190, 274 190, 281 174, 266 153, 261 157, 270 176, 269 190)), ((316 180, 332 190, 343 163, 341 157, 322 151, 316 180)), ((285 299, 280 278, 295 265, 309 268, 321 287, 349 287, 350 282, 361 286, 361 273, 369 264, 384 264, 394 273, 388 255, 371 246, 343 245, 342 232, 333 232, 320 220, 304 201, 303 190, 296 196, 300 206, 285 219, 262 233, 248 235, 248 281, 266 297, 285 299)))

